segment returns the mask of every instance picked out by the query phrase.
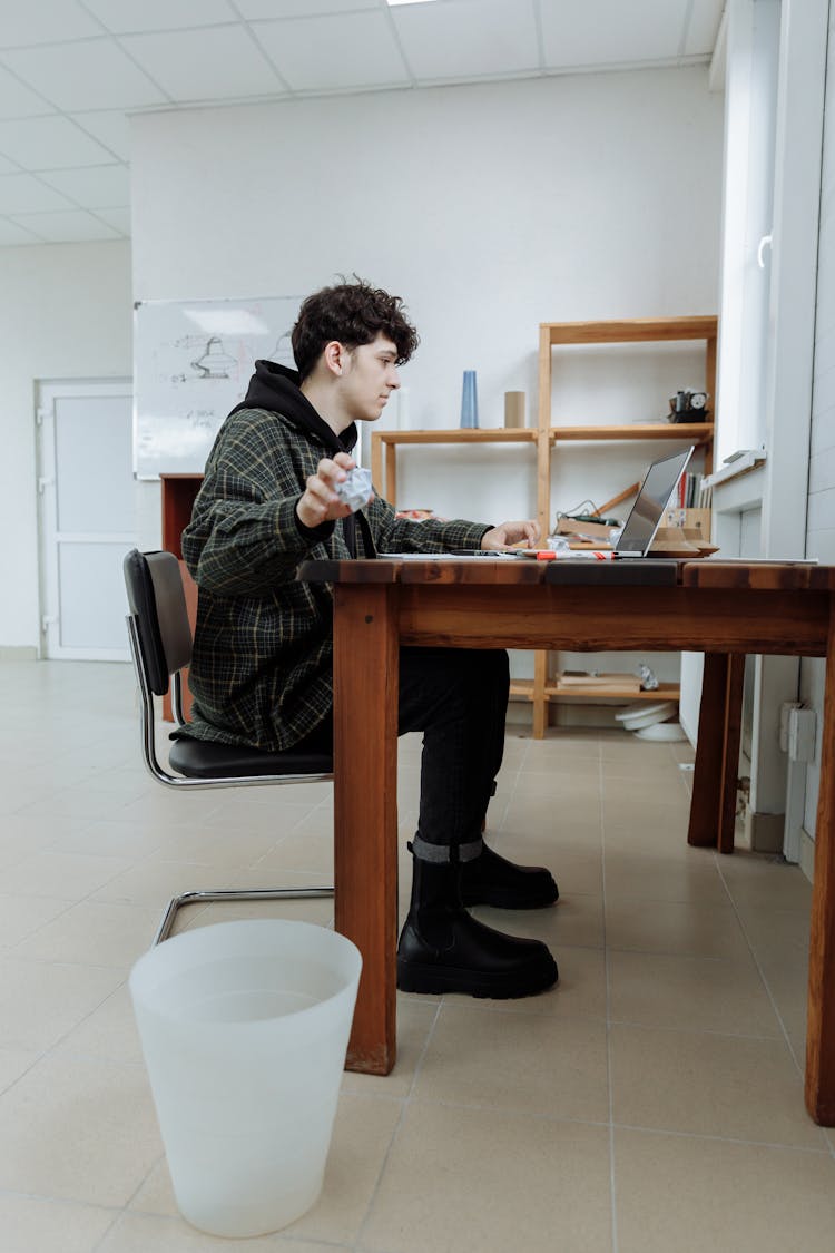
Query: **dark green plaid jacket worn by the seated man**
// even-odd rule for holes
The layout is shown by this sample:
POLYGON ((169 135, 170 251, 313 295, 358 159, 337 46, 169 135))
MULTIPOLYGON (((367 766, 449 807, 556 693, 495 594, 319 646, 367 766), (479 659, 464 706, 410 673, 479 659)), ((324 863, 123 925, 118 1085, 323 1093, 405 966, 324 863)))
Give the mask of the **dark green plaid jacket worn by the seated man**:
MULTIPOLYGON (((342 520, 302 528, 308 475, 332 456, 315 431, 242 408, 224 422, 205 467, 183 556, 198 585, 188 734, 277 752, 332 707, 333 593, 300 583, 308 558, 349 556, 342 520)), ((384 500, 363 511, 381 551, 477 549, 487 524, 398 520, 384 500)), ((357 528, 358 555, 363 550, 357 528)))

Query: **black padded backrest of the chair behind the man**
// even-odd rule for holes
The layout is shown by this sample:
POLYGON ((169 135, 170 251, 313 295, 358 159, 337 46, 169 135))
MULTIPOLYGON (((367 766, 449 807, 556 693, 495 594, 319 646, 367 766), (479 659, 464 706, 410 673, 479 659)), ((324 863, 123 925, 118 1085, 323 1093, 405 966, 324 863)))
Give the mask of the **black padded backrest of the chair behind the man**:
POLYGON ((154 695, 161 697, 168 692, 169 677, 192 660, 192 628, 180 566, 173 553, 133 549, 123 568, 148 685, 154 695))

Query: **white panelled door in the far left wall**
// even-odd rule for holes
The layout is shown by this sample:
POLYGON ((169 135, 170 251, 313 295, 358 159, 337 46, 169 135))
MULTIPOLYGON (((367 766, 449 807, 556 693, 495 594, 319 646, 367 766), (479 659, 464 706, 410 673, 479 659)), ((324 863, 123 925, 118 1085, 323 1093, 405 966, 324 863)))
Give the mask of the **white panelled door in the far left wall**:
POLYGON ((129 660, 121 560, 135 545, 133 387, 41 383, 41 655, 129 660))

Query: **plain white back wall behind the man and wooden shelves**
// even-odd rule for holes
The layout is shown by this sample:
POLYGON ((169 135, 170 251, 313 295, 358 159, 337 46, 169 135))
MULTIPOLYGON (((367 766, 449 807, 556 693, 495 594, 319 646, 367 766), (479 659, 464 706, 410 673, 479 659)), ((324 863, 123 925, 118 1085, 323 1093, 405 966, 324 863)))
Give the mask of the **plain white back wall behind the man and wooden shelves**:
MULTIPOLYGON (((482 426, 502 424, 506 390, 535 421, 541 321, 716 311, 721 129, 705 69, 141 115, 134 293, 304 294, 356 271, 419 328, 411 426, 457 425, 466 368, 482 426)), ((620 446, 601 479, 607 459, 585 456, 571 491, 606 499, 648 459, 620 446)), ((533 509, 523 449, 399 460, 403 504, 533 509)))

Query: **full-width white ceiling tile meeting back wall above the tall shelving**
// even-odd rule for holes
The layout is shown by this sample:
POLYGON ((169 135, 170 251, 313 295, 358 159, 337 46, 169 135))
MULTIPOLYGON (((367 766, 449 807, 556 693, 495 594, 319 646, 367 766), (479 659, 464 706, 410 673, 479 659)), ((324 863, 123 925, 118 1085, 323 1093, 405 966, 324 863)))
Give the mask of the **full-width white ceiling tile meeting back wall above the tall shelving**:
POLYGON ((548 69, 632 65, 675 60, 687 0, 540 0, 542 41, 548 69))

